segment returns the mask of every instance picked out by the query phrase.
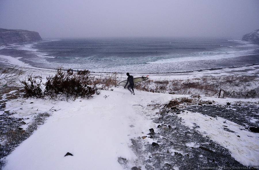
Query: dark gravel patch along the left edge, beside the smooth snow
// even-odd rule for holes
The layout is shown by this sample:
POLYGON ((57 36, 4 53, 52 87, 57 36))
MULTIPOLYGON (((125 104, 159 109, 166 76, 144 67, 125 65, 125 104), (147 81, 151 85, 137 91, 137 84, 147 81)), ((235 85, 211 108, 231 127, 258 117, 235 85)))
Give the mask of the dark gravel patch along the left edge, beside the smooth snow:
POLYGON ((50 116, 50 113, 35 113, 32 118, 17 117, 17 113, 4 111, 5 104, 10 99, 21 97, 19 88, 5 87, 0 89, 0 170, 5 165, 5 157, 9 155, 22 141, 30 137, 33 132, 42 125, 50 116), (15 94, 9 94, 10 91, 17 90, 15 94), (30 120, 28 120, 30 119, 30 120), (27 123, 25 123, 27 122, 27 123), (29 123, 28 123, 29 122, 29 123), (24 130, 20 126, 28 124, 24 130))

